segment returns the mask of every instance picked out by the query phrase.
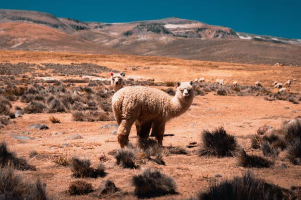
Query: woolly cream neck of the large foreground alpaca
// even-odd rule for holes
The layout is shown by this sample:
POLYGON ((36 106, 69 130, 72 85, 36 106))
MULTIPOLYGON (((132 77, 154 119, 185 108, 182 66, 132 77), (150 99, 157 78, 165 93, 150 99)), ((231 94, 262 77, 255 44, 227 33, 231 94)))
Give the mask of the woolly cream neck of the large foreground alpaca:
POLYGON ((190 96, 188 99, 181 100, 177 97, 177 95, 174 96, 171 99, 171 109, 168 118, 177 117, 183 114, 190 107, 192 100, 193 96, 190 96))

